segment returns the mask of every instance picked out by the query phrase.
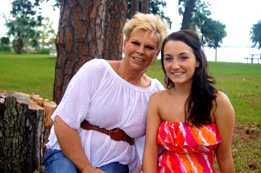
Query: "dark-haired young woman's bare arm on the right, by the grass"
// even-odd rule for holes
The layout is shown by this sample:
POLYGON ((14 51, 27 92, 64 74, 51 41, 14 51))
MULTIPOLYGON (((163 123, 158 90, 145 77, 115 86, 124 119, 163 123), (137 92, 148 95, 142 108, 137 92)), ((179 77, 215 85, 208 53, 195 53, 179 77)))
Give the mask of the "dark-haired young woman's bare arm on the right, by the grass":
POLYGON ((215 123, 222 142, 218 144, 216 150, 217 161, 220 173, 235 172, 231 141, 235 126, 235 112, 229 98, 222 92, 218 93, 217 109, 214 113, 215 123))

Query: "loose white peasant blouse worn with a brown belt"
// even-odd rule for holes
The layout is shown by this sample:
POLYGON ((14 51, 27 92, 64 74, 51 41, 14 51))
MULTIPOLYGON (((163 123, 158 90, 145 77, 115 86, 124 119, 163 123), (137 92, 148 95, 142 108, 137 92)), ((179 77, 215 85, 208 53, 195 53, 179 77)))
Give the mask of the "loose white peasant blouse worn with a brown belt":
MULTIPOLYGON (((118 76, 106 60, 93 59, 71 79, 51 118, 59 115, 78 130, 84 152, 94 168, 119 162, 135 173, 142 161, 148 101, 153 93, 163 89, 157 79, 151 79, 148 88, 132 85, 118 76), (84 119, 100 128, 120 128, 132 138, 143 138, 136 139, 132 146, 114 141, 103 133, 80 128, 84 119)), ((48 140, 47 149, 61 150, 53 126, 48 140)))

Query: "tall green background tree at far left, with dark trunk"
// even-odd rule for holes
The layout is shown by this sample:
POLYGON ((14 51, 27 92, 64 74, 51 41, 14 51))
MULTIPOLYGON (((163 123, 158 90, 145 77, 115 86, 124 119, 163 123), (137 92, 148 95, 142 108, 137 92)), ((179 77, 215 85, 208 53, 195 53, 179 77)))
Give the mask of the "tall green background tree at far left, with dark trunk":
POLYGON ((36 30, 37 26, 41 25, 43 17, 37 16, 35 5, 28 0, 13 1, 11 15, 14 20, 6 20, 6 26, 9 28, 8 36, 14 36, 13 47, 17 54, 21 54, 25 43, 30 42, 32 47, 38 46, 37 38, 39 33, 36 30))

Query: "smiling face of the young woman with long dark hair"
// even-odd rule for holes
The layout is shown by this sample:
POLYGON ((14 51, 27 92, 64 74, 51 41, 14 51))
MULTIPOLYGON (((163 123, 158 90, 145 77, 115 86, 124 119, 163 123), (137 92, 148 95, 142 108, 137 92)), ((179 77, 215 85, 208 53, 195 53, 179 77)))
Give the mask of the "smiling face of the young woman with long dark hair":
POLYGON ((182 41, 170 40, 163 51, 163 63, 168 78, 175 85, 188 82, 192 84, 195 68, 200 65, 193 49, 182 41))

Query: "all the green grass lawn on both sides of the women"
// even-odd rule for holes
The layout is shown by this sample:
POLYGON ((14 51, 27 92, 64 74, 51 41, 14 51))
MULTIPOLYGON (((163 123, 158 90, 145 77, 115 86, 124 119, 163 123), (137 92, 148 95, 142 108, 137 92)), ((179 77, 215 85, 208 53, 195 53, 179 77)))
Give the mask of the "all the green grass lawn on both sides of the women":
MULTIPOLYGON (((51 101, 55 57, 0 52, 0 89, 27 94, 37 93, 51 101)), ((216 89, 229 97, 235 109, 236 120, 242 124, 261 126, 261 64, 209 62, 209 69, 216 77, 216 89)), ((160 60, 156 65, 151 65, 146 74, 163 83, 164 74, 160 60)), ((257 132, 259 134, 260 126, 257 132)), ((236 172, 261 171, 261 168, 253 170, 246 166, 251 161, 261 164, 260 141, 260 138, 253 141, 238 140, 232 145, 236 172)))

